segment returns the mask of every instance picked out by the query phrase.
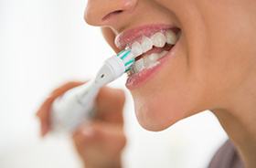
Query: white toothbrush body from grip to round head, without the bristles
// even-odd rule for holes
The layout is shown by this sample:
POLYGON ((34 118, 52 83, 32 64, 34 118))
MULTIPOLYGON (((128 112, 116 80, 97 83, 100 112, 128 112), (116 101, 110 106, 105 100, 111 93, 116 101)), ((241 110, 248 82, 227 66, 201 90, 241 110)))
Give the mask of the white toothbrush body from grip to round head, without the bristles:
POLYGON ((72 132, 82 121, 90 120, 95 98, 102 86, 123 75, 125 65, 116 56, 108 58, 91 82, 69 89, 51 107, 51 128, 55 132, 72 132))

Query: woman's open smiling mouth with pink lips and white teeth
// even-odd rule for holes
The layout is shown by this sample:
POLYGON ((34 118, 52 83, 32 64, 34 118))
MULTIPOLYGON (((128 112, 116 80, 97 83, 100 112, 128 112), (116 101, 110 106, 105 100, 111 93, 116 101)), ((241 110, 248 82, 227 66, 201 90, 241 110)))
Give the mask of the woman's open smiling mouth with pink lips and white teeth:
POLYGON ((120 49, 130 47, 135 56, 135 63, 127 71, 126 87, 134 89, 150 79, 171 57, 181 30, 175 26, 152 25, 141 26, 123 32, 115 38, 120 49))

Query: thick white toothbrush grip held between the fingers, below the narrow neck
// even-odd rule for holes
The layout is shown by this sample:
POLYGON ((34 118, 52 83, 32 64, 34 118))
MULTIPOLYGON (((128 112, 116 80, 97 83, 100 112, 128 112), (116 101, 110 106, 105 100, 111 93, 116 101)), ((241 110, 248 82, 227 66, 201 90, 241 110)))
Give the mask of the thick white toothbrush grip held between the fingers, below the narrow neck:
POLYGON ((99 88, 93 81, 74 89, 69 89, 54 100, 51 106, 51 130, 54 132, 72 132, 82 121, 90 120, 95 109, 95 98, 99 88))

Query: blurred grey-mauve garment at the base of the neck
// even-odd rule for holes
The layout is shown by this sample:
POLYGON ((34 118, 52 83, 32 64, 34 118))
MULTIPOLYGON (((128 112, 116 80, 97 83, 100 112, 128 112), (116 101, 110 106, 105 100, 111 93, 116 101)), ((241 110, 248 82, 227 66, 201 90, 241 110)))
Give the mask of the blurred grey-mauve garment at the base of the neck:
POLYGON ((208 168, 244 168, 244 166, 235 146, 227 141, 214 155, 208 168))

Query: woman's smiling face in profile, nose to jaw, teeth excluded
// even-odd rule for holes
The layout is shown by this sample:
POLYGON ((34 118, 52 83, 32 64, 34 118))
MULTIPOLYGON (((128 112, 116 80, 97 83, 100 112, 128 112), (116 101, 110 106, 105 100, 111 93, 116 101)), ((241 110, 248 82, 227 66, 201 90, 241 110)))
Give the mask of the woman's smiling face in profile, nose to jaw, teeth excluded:
POLYGON ((150 37, 150 31, 165 32, 166 27, 180 30, 163 61, 127 83, 140 124, 161 131, 199 111, 226 108, 240 91, 255 67, 256 44, 251 40, 256 39, 251 16, 255 4, 254 0, 88 0, 85 20, 102 27, 115 51, 123 48, 116 46, 115 37, 132 44, 143 33, 150 37))

